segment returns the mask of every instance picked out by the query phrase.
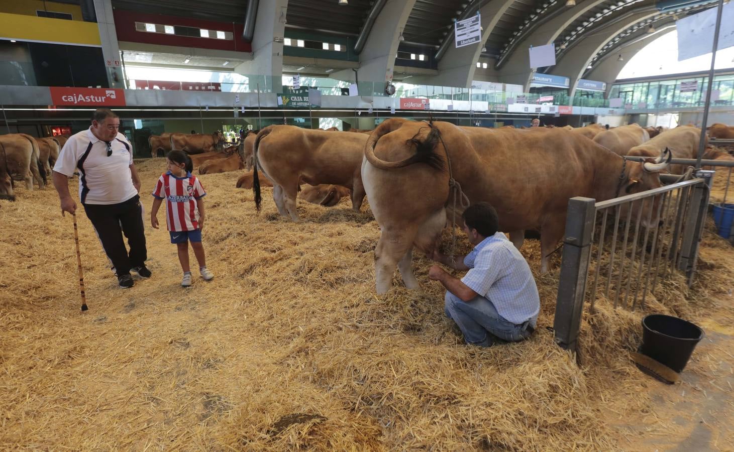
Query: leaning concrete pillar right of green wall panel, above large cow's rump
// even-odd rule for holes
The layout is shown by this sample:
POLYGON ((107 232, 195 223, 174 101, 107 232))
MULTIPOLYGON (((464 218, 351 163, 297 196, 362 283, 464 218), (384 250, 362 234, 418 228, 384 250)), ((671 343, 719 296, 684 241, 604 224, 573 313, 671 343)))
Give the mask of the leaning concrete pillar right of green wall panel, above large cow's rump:
MULTIPOLYGON (((360 83, 392 81, 400 32, 414 4, 415 0, 390 0, 382 7, 360 53, 360 67, 357 69, 360 83)), ((332 73, 331 78, 353 81, 355 73, 351 69, 339 70, 332 73)))

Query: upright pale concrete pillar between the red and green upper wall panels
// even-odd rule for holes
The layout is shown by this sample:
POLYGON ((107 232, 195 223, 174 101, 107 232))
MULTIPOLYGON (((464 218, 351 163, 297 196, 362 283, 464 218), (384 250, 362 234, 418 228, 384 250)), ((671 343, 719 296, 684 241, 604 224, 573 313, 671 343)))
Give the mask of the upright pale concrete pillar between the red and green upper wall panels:
POLYGON ((250 88, 280 91, 283 86, 283 34, 286 24, 280 22, 280 12, 286 12, 288 0, 261 1, 252 36, 252 60, 242 62, 234 72, 250 79, 250 88), (277 41, 276 41, 277 39, 277 41))

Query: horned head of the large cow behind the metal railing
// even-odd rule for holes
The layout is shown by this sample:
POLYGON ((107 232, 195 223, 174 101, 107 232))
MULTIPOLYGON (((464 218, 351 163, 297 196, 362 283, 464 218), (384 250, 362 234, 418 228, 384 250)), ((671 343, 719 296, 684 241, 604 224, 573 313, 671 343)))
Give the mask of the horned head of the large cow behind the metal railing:
MULTIPOLYGON (((672 153, 666 147, 657 158, 645 158, 644 161, 640 162, 628 161, 627 165, 629 167, 629 171, 627 172, 627 180, 622 186, 623 192, 620 190, 619 196, 644 192, 660 187, 660 172, 668 167, 671 159, 672 153)), ((658 195, 655 197, 647 197, 642 201, 635 201, 631 204, 626 203, 621 206, 619 213, 622 218, 627 218, 628 208, 632 205, 632 213, 630 216, 632 221, 636 221, 636 218, 639 215, 643 226, 653 227, 655 226, 655 222, 658 218, 660 200, 661 196, 658 195), (642 208, 641 214, 639 213, 640 208, 642 208)))

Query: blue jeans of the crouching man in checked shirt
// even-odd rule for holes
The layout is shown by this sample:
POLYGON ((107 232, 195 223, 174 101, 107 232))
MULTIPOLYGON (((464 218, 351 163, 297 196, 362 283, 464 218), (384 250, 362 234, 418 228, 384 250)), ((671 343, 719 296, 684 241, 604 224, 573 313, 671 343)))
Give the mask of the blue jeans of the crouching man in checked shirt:
POLYGON ((455 321, 464 333, 466 343, 489 347, 493 344, 492 335, 510 342, 523 340, 530 335, 529 322, 516 325, 499 315, 495 305, 484 296, 477 296, 468 302, 446 291, 444 312, 455 321))

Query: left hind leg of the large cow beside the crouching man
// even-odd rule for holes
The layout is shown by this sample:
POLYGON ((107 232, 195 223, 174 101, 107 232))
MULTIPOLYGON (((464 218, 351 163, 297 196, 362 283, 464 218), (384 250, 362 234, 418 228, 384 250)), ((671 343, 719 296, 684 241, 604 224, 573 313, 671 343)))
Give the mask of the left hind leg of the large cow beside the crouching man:
MULTIPOLYGON (((374 249, 374 277, 377 283, 377 294, 385 294, 393 283, 393 274, 399 260, 404 258, 413 247, 413 238, 417 227, 398 227, 396 230, 382 230, 377 247, 374 249)), ((411 274, 410 263, 407 272, 411 274)), ((415 279, 415 277, 413 277, 415 279)))

